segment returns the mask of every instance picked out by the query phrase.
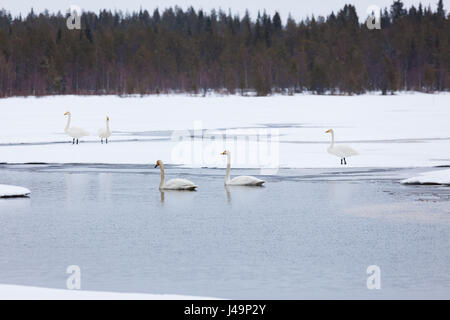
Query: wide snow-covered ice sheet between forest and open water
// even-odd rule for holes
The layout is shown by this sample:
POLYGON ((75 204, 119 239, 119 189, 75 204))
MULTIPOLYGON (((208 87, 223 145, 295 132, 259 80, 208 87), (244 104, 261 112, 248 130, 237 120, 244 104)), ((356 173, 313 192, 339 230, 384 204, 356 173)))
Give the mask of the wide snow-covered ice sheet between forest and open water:
POLYGON ((347 167, 450 165, 448 93, 53 96, 0 99, 0 109, 0 163, 154 164, 161 159, 186 167, 224 167, 219 153, 226 148, 235 157, 233 167, 341 167, 340 159, 327 153, 331 137, 325 131, 333 128, 336 143, 360 154, 348 158, 347 167), (79 145, 64 134, 66 111, 72 113, 71 125, 93 133, 79 145), (113 135, 102 145, 95 133, 105 126, 106 115, 113 135), (266 134, 272 134, 271 143, 266 134), (242 144, 246 139, 250 142, 242 144))

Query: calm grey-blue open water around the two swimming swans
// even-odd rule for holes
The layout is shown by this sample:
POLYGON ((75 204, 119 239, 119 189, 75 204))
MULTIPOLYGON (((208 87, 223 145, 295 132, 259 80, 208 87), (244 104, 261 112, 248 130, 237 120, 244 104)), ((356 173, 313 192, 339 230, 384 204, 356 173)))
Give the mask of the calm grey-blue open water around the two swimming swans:
POLYGON ((166 171, 199 190, 161 194, 150 165, 0 166, 2 183, 32 192, 0 199, 0 283, 65 288, 78 265, 85 290, 450 296, 450 188, 399 183, 425 169, 281 169, 229 190, 223 169, 166 171), (366 288, 369 265, 381 290, 366 288))

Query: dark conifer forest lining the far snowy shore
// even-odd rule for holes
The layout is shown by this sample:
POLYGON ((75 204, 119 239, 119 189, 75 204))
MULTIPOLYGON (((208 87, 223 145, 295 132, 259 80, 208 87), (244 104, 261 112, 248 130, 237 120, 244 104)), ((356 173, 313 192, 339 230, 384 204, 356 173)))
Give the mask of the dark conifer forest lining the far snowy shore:
POLYGON ((0 96, 380 90, 447 91, 449 16, 440 0, 405 8, 395 1, 369 30, 355 7, 282 23, 175 7, 160 12, 66 16, 0 11, 0 96))

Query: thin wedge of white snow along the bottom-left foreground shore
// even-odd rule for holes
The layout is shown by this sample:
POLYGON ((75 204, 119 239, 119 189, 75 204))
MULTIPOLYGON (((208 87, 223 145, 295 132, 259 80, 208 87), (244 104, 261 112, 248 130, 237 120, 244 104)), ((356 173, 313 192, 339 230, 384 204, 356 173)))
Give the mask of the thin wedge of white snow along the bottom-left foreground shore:
POLYGON ((0 300, 215 300, 171 294, 63 290, 0 284, 0 300))

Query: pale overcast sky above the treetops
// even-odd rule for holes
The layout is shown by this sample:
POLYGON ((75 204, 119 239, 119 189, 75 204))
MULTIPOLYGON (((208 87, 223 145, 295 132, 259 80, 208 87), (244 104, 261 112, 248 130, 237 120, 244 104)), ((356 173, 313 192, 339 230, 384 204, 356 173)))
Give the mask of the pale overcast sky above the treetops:
MULTIPOLYGON (((257 15, 258 10, 264 9, 273 14, 275 11, 280 12, 283 20, 289 13, 296 20, 305 18, 314 14, 328 15, 331 11, 338 11, 346 3, 355 5, 358 15, 366 17, 366 10, 371 5, 384 8, 389 7, 393 0, 0 0, 0 8, 5 8, 11 14, 27 13, 31 8, 35 12, 41 12, 48 9, 50 12, 66 12, 70 5, 77 5, 85 11, 98 12, 99 9, 117 9, 122 11, 135 11, 140 7, 153 11, 154 8, 160 9, 178 5, 181 8, 193 6, 195 9, 211 10, 212 8, 222 8, 228 12, 231 9, 233 13, 243 14, 245 9, 249 9, 252 17, 257 15)), ((433 10, 436 8, 438 0, 403 0, 403 3, 409 8, 412 4, 418 5, 422 2, 424 6, 431 5, 433 10)), ((444 0, 445 9, 448 12, 448 3, 450 0, 444 0)))

